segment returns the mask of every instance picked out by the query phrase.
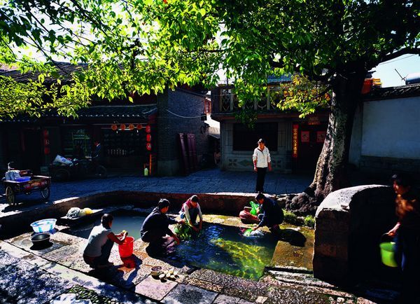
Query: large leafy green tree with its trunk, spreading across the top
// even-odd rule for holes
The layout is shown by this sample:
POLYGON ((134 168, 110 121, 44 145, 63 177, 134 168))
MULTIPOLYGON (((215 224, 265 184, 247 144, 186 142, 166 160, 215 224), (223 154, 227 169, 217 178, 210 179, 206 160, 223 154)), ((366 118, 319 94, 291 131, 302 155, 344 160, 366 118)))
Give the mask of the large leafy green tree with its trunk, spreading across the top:
MULTIPOLYGON (((89 64, 53 90, 66 115, 91 95, 113 99, 180 83, 214 85, 219 69, 235 81, 242 105, 265 92, 268 75, 297 72, 326 85, 315 95, 332 90, 330 123, 307 191, 318 201, 346 186, 366 72, 420 54, 416 0, 3 0, 0 17, 0 62, 40 69, 39 60, 22 53, 31 46, 50 63, 42 67, 49 73, 56 57, 89 64)), ((279 106, 311 113, 318 106, 313 97, 294 94, 279 106)), ((8 106, 0 99, 0 116, 14 114, 8 106)))

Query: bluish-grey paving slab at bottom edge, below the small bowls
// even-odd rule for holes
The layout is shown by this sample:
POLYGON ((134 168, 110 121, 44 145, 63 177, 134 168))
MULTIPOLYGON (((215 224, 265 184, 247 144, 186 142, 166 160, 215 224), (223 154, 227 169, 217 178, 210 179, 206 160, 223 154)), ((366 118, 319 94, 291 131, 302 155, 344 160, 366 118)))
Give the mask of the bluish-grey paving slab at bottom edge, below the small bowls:
POLYGON ((210 304, 218 294, 213 291, 207 291, 186 284, 178 284, 167 296, 162 303, 167 304, 210 304))

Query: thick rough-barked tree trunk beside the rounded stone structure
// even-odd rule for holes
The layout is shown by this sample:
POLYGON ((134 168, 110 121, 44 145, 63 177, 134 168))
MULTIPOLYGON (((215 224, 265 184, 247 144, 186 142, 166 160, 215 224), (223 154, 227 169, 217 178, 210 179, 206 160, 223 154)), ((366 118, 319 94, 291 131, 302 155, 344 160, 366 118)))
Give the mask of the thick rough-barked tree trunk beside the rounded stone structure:
POLYGON ((314 214, 316 207, 332 191, 350 186, 347 165, 354 113, 360 100, 366 71, 338 78, 332 85, 331 113, 314 181, 286 207, 298 214, 314 214))

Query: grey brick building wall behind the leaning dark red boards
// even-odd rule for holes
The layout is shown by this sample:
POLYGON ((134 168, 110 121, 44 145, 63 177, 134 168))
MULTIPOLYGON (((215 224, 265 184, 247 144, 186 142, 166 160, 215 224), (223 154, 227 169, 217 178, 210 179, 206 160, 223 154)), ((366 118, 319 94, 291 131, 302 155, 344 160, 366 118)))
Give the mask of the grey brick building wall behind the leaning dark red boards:
POLYGON ((159 175, 170 176, 181 173, 181 153, 177 139, 179 133, 195 134, 195 149, 200 164, 202 155, 208 151, 209 144, 207 130, 202 132, 205 123, 199 117, 203 109, 204 96, 193 92, 166 90, 158 95, 159 175))

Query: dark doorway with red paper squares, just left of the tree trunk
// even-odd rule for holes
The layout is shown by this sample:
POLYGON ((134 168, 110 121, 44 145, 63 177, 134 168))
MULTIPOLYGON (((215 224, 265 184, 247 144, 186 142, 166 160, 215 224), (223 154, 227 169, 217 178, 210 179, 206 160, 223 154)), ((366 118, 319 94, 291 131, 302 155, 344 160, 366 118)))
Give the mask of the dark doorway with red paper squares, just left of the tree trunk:
POLYGON ((327 125, 299 125, 297 169, 314 171, 321 153, 327 125))

